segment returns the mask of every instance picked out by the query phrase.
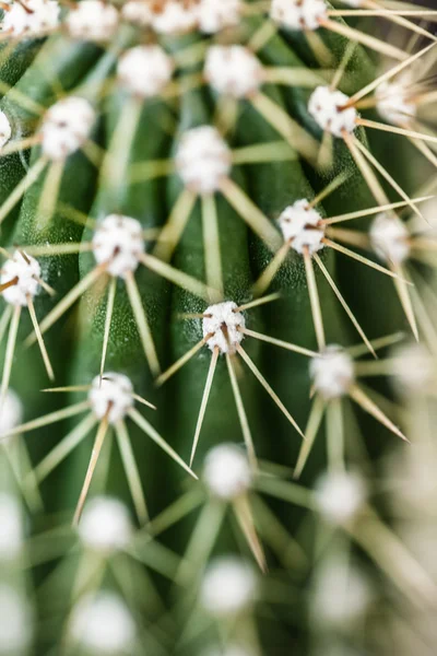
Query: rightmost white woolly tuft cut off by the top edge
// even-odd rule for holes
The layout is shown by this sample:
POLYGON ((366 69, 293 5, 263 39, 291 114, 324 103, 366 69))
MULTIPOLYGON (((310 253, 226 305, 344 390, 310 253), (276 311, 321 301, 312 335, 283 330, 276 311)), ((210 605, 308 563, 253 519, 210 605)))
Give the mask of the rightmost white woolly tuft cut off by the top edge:
POLYGON ((328 17, 324 0, 272 0, 270 16, 288 30, 318 30, 328 17))

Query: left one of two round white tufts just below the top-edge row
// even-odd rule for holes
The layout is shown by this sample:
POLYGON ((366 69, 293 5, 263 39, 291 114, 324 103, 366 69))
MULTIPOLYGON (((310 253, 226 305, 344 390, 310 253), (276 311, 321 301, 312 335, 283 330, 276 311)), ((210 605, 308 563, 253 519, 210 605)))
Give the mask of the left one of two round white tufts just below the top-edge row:
POLYGON ((172 58, 161 46, 137 46, 120 57, 117 75, 130 93, 149 98, 168 84, 174 68, 172 58))

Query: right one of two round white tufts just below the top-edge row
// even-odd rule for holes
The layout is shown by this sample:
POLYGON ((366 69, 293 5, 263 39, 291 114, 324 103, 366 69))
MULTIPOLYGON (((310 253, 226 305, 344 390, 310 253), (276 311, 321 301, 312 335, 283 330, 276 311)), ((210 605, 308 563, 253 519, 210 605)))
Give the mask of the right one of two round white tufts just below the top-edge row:
POLYGON ((253 95, 264 80, 260 60, 244 46, 209 48, 204 75, 217 93, 234 98, 253 95))

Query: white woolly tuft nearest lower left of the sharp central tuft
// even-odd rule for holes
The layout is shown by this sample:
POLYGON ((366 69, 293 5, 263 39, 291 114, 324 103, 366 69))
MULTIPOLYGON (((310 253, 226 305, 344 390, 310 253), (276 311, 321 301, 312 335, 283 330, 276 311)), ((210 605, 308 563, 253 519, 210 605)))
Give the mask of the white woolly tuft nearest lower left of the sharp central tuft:
POLYGON ((96 376, 88 393, 88 399, 97 419, 107 415, 110 424, 116 424, 125 419, 133 406, 133 387, 127 376, 122 374, 104 373, 96 376))

